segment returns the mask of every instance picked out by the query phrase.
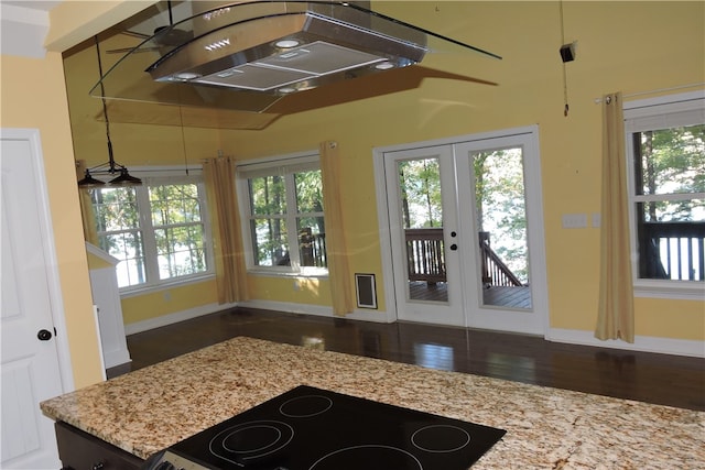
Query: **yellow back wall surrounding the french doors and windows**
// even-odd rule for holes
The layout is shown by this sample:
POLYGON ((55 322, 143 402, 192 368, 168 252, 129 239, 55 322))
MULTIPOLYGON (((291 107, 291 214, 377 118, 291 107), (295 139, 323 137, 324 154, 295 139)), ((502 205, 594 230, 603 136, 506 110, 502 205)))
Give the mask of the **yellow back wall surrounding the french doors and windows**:
MULTIPOLYGON (((503 61, 478 54, 440 54, 429 57, 424 64, 469 79, 434 78, 416 67, 404 70, 404 75, 390 74, 375 81, 356 80, 344 87, 332 87, 315 95, 323 108, 284 117, 263 131, 214 132, 187 128, 189 160, 210 156, 217 149, 238 159, 252 159, 316 149, 324 140, 337 141, 346 175, 340 182, 346 205, 344 217, 348 241, 356 254, 350 271, 377 274, 380 310, 383 310, 372 149, 538 123, 551 327, 593 330, 598 288, 598 231, 564 230, 561 216, 599 211, 600 110, 594 99, 616 90, 633 94, 705 81, 704 4, 564 2, 565 42, 578 41, 576 61, 565 66, 568 117, 563 116, 557 2, 390 1, 373 2, 373 7, 498 53, 503 61), (345 97, 399 87, 409 76, 426 78, 415 87, 391 95, 326 106, 345 97)), ((90 59, 86 61, 85 66, 90 69, 90 59)), ((89 112, 94 116, 99 112, 97 105, 89 112)), ((161 118, 154 117, 156 114, 143 117, 142 122, 159 122, 161 118)), ((170 119, 173 123, 175 118, 170 119)), ((76 141, 78 159, 105 154, 104 129, 99 122, 74 122, 74 125, 87 125, 80 132, 74 129, 80 136, 76 141)), ((164 156, 160 160, 164 164, 183 162, 180 145, 174 143, 181 142, 178 128, 117 121, 113 128, 116 157, 122 163, 155 164, 158 156, 164 156), (172 156, 174 161, 170 162, 172 156)), ((254 298, 314 305, 329 302, 325 282, 319 286, 321 296, 313 292, 294 289, 292 280, 250 278, 250 293, 254 298)), ((175 297, 177 294, 172 293, 172 306, 175 297)), ((126 321, 172 311, 170 306, 160 305, 163 299, 163 293, 142 300, 126 298, 126 321), (138 315, 139 310, 142 313, 138 315)), ((705 339, 703 302, 638 298, 636 307, 637 335, 705 339)))

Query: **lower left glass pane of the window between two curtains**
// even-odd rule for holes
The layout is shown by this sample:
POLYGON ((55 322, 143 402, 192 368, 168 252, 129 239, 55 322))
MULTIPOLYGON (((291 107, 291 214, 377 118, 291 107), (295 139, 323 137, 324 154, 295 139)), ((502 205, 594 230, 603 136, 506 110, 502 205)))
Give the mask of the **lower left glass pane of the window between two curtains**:
POLYGON ((290 266, 286 221, 283 219, 252 219, 250 221, 254 264, 258 266, 290 266))

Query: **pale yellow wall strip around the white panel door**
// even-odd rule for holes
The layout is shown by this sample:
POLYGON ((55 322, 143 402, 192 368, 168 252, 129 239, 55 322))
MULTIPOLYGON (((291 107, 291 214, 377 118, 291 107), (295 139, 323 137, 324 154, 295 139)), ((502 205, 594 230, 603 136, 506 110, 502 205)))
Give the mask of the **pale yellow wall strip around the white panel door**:
POLYGON ((3 55, 0 61, 0 127, 33 128, 41 133, 74 384, 80 387, 102 380, 102 372, 80 228, 62 56, 50 53, 36 59, 3 55))

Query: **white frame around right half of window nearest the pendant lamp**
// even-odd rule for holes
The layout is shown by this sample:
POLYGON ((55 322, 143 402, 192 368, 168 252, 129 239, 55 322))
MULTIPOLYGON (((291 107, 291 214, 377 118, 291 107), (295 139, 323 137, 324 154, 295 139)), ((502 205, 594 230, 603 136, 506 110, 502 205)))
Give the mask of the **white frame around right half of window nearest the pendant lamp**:
MULTIPOLYGON (((144 273, 147 281, 142 284, 119 287, 121 297, 142 295, 148 292, 162 291, 180 285, 187 285, 203 282, 215 276, 215 263, 213 253, 213 234, 206 200, 206 187, 202 175, 200 166, 189 166, 188 174, 185 168, 159 166, 159 167, 131 167, 130 174, 142 179, 142 185, 135 186, 135 199, 138 206, 139 228, 138 231, 143 238, 144 250, 144 273), (175 173, 180 173, 175 175, 175 173), (200 208, 200 222, 204 227, 204 250, 206 256, 206 271, 176 277, 160 278, 159 253, 156 249, 156 238, 154 225, 152 223, 152 205, 150 203, 149 188, 161 185, 195 184, 198 190, 198 203, 200 208)), ((109 187, 109 186, 108 186, 109 187)), ((158 229, 162 229, 158 226, 158 229)))

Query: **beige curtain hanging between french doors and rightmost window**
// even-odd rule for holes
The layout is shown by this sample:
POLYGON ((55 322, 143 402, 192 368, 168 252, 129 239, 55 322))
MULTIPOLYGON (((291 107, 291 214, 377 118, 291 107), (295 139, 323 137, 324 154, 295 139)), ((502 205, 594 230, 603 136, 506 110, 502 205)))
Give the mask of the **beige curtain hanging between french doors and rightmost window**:
POLYGON ((621 94, 603 98, 599 306, 595 337, 634 342, 631 248, 621 94))

